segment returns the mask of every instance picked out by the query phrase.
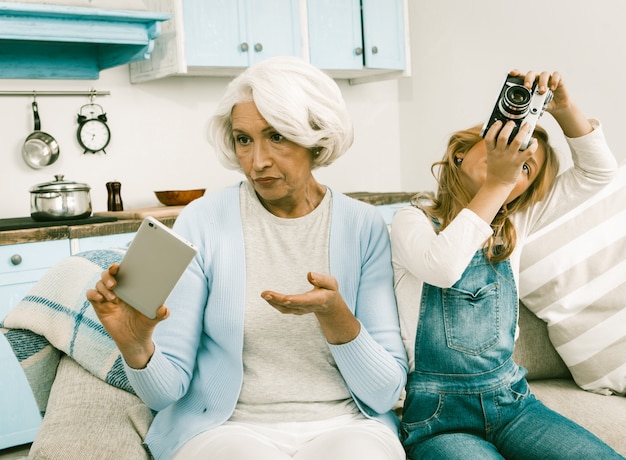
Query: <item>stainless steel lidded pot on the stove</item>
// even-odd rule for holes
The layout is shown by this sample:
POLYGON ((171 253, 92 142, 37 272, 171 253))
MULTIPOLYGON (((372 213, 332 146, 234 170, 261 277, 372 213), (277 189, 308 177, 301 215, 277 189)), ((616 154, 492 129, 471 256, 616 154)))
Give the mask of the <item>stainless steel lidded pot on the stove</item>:
POLYGON ((30 216, 35 220, 82 219, 91 215, 91 187, 54 176, 30 189, 30 216))

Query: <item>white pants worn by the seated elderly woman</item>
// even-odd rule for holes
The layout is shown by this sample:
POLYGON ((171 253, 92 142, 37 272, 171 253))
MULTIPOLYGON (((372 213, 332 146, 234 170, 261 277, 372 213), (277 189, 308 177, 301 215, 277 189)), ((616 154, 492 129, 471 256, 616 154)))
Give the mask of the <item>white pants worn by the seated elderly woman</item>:
POLYGON ((317 422, 226 422, 185 443, 172 460, 404 460, 396 433, 344 415, 317 422))

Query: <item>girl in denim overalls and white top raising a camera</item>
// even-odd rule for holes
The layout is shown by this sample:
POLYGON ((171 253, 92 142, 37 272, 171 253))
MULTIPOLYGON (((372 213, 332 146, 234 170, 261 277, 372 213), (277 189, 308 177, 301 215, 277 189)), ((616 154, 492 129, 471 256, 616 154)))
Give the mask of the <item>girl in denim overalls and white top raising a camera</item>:
MULTIPOLYGON (((511 75, 522 75, 512 71, 511 75)), ((623 458, 530 393, 512 360, 519 255, 525 236, 582 203, 616 168, 601 126, 572 102, 558 72, 529 72, 573 153, 559 165, 544 130, 519 150, 513 123, 455 133, 436 196, 400 210, 391 240, 410 374, 401 425, 410 459, 623 458), (556 180, 555 180, 556 178, 556 180)))

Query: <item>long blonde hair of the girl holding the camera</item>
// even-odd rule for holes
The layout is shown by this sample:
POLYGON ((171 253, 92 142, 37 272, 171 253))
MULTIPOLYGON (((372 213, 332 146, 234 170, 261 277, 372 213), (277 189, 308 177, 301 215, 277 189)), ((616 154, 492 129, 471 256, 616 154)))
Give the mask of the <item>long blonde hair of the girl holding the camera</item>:
MULTIPOLYGON (((459 153, 467 153, 482 140, 481 128, 482 125, 477 125, 457 131, 450 136, 442 160, 431 167, 438 183, 436 195, 428 192, 419 193, 412 199, 412 202, 429 217, 439 221, 440 230, 446 228, 472 199, 462 184, 460 169, 454 160, 459 153)), ((515 249, 517 234, 509 216, 543 200, 559 172, 559 159, 549 143, 548 133, 537 126, 533 137, 545 150, 546 158, 530 186, 513 201, 503 205, 491 222, 493 234, 485 243, 483 250, 487 258, 494 262, 507 259, 515 249)))

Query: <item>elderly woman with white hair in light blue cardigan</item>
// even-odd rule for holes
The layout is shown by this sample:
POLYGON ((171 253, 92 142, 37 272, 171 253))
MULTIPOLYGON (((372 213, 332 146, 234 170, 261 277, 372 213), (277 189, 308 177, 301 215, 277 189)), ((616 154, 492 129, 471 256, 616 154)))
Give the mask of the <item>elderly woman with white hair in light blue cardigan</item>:
POLYGON ((250 67, 211 120, 245 181, 195 200, 174 229, 198 255, 151 320, 87 293, 137 394, 156 458, 404 459, 406 381, 388 231, 316 181, 352 144, 336 83, 296 58, 250 67))

